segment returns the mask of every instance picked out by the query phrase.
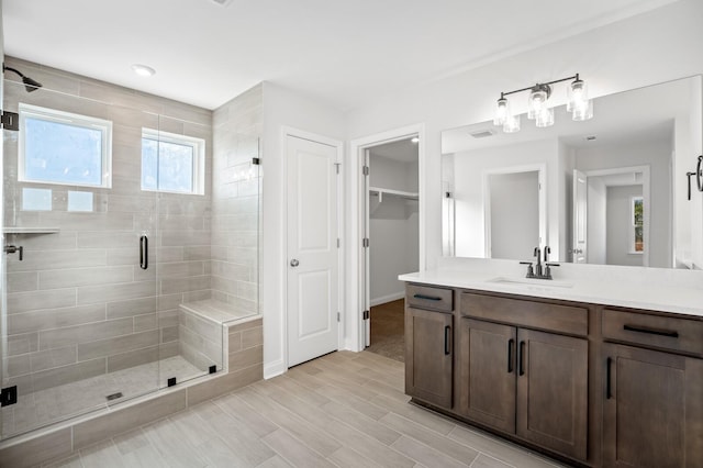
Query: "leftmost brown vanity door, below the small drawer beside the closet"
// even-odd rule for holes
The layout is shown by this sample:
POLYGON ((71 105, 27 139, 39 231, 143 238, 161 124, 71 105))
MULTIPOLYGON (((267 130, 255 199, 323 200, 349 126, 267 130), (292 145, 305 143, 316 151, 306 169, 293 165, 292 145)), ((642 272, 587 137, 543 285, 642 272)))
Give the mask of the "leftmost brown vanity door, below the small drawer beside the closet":
POLYGON ((451 408, 454 315, 405 309, 405 392, 451 408))

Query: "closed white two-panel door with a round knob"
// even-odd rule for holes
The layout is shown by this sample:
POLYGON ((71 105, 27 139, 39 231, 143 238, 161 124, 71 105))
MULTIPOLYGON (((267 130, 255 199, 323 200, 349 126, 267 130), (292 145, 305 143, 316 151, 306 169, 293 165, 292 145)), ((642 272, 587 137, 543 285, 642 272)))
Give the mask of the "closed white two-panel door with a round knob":
POLYGON ((288 366, 337 349, 337 148, 287 136, 288 366))

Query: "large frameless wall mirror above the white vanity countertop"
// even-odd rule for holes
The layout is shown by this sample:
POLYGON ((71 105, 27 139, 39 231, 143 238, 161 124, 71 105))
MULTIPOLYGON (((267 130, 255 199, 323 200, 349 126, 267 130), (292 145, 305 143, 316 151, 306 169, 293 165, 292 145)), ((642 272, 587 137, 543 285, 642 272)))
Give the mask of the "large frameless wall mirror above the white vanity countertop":
POLYGON ((702 77, 594 99, 594 116, 442 134, 445 256, 701 268, 702 77))

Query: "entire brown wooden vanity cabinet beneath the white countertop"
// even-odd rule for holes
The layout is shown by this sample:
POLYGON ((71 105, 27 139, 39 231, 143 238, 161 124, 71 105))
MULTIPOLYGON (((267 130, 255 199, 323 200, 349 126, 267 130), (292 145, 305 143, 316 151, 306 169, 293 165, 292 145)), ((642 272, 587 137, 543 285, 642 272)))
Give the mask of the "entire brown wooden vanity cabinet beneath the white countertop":
POLYGON ((701 316, 409 283, 405 333, 419 404, 569 466, 703 468, 701 316))

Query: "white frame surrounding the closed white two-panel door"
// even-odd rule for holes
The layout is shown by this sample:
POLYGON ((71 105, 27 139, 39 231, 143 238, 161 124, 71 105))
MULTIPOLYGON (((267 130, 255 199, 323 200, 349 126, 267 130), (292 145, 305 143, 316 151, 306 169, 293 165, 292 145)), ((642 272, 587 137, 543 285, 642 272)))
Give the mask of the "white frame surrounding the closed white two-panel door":
MULTIPOLYGON (((344 157, 344 143, 339 140, 330 138, 327 136, 323 136, 316 133, 306 132, 304 130, 294 129, 292 126, 282 125, 281 126, 281 151, 283 153, 282 159, 282 174, 283 176, 283 193, 288 193, 288 153, 287 153, 287 144, 286 138, 288 136, 294 136, 297 138, 309 140, 311 142, 322 143, 324 145, 332 146, 336 148, 337 152, 337 164, 339 168, 339 178, 337 179, 337 213, 343 213, 344 209, 344 165, 342 164, 344 157)), ((283 209, 283 227, 288 233, 288 208, 283 209)), ((343 242, 343 233, 344 233, 344 216, 337 216, 337 237, 341 239, 339 242, 344 246, 343 242)), ((279 270, 282 275, 282 288, 283 288, 283 326, 282 326, 282 354, 283 354, 283 371, 288 369, 288 235, 281 236, 281 242, 283 243, 282 252, 283 252, 283 261, 281 261, 281 269, 279 270)), ((344 344, 344 326, 342 324, 345 323, 345 310, 344 310, 344 255, 343 248, 337 248, 337 308, 341 314, 339 322, 337 322, 337 348, 342 349, 344 344)))

